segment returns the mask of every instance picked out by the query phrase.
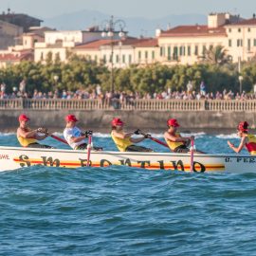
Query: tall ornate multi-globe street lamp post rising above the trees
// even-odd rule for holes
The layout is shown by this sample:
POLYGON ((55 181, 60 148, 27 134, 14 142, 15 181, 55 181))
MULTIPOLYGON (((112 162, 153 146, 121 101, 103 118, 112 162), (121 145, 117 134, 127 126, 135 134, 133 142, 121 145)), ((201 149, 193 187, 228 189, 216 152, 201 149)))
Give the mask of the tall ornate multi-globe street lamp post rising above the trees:
POLYGON ((114 20, 114 16, 110 17, 110 20, 103 22, 103 32, 101 36, 103 38, 109 38, 111 42, 111 53, 110 53, 110 62, 111 62, 111 91, 115 91, 115 74, 114 74, 114 45, 115 37, 118 36, 119 39, 125 37, 124 32, 125 22, 122 20, 114 20), (117 27, 119 27, 117 29, 117 27))

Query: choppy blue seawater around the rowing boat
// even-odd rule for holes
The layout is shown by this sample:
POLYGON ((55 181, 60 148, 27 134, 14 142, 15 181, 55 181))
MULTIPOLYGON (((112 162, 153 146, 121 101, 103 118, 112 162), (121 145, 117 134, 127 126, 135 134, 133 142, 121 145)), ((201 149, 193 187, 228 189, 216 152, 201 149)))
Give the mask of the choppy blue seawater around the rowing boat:
MULTIPOLYGON (((228 139, 239 142, 206 134, 195 141, 202 151, 231 153, 228 139)), ((108 135, 93 140, 116 150, 108 135)), ((13 134, 0 134, 0 144, 18 146, 13 134)), ((255 197, 256 174, 127 166, 3 172, 0 255, 256 255, 255 197)))

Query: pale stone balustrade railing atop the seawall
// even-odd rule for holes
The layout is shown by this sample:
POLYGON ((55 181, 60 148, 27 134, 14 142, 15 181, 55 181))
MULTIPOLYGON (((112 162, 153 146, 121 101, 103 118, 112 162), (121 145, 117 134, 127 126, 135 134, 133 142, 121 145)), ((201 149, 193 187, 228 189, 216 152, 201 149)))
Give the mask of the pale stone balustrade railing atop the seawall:
POLYGON ((35 109, 35 110, 149 110, 149 111, 221 111, 239 112, 256 111, 256 100, 62 100, 62 99, 3 99, 0 109, 35 109))

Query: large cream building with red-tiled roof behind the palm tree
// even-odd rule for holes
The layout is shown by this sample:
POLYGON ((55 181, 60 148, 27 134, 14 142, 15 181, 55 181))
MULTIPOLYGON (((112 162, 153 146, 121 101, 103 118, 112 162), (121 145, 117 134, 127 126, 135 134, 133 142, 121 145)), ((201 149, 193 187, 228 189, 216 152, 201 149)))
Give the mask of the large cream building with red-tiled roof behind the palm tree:
POLYGON ((208 25, 178 26, 156 30, 161 64, 195 64, 214 46, 223 46, 233 63, 249 61, 256 54, 256 18, 210 13, 208 25))

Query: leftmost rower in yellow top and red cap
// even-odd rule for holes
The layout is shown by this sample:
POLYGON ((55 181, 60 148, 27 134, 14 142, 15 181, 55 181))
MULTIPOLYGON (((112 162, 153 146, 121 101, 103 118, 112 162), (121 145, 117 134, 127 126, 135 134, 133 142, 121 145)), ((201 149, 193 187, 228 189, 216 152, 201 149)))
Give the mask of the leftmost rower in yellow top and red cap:
POLYGON ((23 147, 27 148, 41 148, 41 149, 52 149, 53 147, 39 144, 37 140, 43 140, 47 137, 46 128, 38 128, 36 130, 31 130, 28 127, 28 121, 25 114, 19 116, 20 126, 17 129, 17 138, 23 147), (44 133, 43 133, 44 132, 44 133))

